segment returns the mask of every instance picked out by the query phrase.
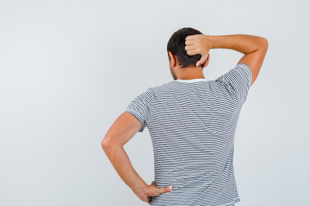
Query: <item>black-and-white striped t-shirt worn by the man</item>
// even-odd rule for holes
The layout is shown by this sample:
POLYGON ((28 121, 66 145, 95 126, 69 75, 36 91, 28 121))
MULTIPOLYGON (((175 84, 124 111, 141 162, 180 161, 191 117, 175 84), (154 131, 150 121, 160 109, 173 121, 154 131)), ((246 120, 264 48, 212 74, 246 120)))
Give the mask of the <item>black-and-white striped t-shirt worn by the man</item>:
POLYGON ((238 202, 234 135, 252 73, 238 64, 215 81, 176 80, 147 89, 125 112, 147 126, 155 182, 173 186, 152 206, 233 206, 238 202))

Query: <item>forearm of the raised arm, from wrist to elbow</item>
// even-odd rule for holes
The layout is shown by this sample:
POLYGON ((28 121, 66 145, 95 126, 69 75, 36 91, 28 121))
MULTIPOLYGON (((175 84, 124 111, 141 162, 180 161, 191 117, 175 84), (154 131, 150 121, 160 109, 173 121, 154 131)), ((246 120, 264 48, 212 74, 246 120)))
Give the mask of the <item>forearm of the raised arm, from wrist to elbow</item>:
POLYGON ((260 48, 266 47, 266 40, 251 35, 225 35, 206 36, 210 42, 210 48, 226 48, 249 54, 260 48))

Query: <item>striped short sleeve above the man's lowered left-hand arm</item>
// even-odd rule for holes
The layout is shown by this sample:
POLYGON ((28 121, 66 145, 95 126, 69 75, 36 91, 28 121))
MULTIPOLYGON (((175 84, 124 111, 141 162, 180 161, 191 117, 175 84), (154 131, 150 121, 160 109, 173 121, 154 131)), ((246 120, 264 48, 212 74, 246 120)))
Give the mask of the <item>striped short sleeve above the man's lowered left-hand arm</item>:
POLYGON ((142 132, 146 126, 148 127, 150 125, 153 110, 152 106, 152 93, 150 90, 147 90, 134 98, 125 109, 125 112, 135 116, 142 124, 139 132, 142 132))

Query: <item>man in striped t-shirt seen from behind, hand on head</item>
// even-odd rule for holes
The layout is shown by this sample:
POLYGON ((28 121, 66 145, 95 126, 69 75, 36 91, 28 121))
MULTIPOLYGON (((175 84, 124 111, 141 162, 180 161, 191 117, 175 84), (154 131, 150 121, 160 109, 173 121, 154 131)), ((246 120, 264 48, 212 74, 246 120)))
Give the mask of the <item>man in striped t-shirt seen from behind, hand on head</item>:
POLYGON ((115 170, 142 201, 154 206, 233 206, 240 200, 233 170, 234 135, 267 47, 264 38, 207 36, 192 28, 171 36, 167 51, 175 81, 137 96, 102 141, 115 170), (203 68, 212 48, 244 56, 228 73, 206 81, 203 68), (146 126, 154 149, 151 185, 141 179, 123 149, 146 126))

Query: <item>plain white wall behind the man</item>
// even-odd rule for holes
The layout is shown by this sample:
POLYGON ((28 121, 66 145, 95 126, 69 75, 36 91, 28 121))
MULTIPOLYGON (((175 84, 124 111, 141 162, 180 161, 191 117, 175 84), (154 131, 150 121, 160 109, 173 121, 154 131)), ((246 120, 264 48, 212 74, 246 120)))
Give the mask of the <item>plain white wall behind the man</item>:
MULTIPOLYGON (((172 81, 182 27, 265 37, 269 50, 235 139, 238 206, 310 205, 306 0, 0 0, 0 206, 147 206, 101 140, 130 101, 172 81)), ((207 79, 241 54, 211 50, 207 79)), ((148 131, 126 146, 153 180, 148 131)))

